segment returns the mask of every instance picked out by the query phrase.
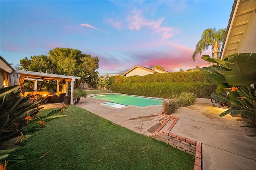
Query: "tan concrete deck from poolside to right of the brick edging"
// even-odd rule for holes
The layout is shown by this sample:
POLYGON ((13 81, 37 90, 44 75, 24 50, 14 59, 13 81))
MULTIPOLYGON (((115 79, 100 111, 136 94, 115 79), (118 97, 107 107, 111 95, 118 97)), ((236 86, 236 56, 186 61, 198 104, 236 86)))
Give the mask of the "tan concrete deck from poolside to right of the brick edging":
MULTIPOLYGON (((134 132, 148 136, 161 125, 158 113, 162 106, 115 109, 100 105, 105 101, 89 96, 81 98, 77 106, 134 132)), ((237 118, 219 117, 224 110, 214 107, 210 99, 198 98, 194 105, 172 114, 180 119, 170 132, 202 143, 203 170, 256 169, 256 137, 247 136, 253 132, 239 127, 237 118)))

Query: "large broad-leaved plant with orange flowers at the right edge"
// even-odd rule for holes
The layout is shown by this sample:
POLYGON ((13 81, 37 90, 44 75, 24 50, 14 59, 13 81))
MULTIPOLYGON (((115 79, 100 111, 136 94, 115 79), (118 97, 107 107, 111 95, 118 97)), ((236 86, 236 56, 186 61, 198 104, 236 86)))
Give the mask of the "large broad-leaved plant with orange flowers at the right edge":
MULTIPOLYGON (((210 58, 209 55, 201 57, 205 61, 218 63, 211 67, 204 67, 201 70, 208 73, 208 76, 218 81, 219 86, 212 97, 222 103, 230 102, 231 108, 224 111, 220 116, 230 114, 244 115, 250 127, 256 129, 256 53, 235 53, 224 60, 210 58), (254 84, 254 85, 252 85, 254 84), (252 86, 251 86, 252 85, 252 86), (223 93, 228 92, 225 97, 223 93)), ((252 135, 256 136, 256 135, 252 135)))

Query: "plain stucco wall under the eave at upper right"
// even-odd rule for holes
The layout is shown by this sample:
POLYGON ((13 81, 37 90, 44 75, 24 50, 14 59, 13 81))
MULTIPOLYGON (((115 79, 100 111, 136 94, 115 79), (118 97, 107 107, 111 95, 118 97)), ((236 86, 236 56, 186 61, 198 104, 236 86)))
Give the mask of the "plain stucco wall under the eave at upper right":
POLYGON ((256 53, 256 12, 252 12, 236 53, 256 53))

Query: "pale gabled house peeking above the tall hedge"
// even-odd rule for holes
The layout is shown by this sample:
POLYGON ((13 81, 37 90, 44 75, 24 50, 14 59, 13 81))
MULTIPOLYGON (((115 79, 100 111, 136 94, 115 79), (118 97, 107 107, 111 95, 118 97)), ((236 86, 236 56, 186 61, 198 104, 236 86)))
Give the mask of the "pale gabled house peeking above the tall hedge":
POLYGON ((146 67, 135 65, 134 67, 132 67, 122 75, 126 77, 130 77, 133 75, 142 76, 142 75, 155 74, 155 73, 168 73, 168 71, 157 69, 156 67, 153 67, 152 69, 148 69, 146 67))

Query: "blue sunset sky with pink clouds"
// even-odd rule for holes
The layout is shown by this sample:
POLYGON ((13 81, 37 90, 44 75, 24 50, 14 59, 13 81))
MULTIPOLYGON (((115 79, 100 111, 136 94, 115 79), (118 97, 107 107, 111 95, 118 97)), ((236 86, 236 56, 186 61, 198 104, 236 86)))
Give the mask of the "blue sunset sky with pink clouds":
MULTIPOLYGON (((209 63, 211 47, 191 60, 208 28, 226 28, 233 0, 0 1, 0 55, 10 64, 56 47, 98 56, 100 75, 135 65, 176 72, 209 63)), ((15 66, 12 65, 14 68, 15 66)))

